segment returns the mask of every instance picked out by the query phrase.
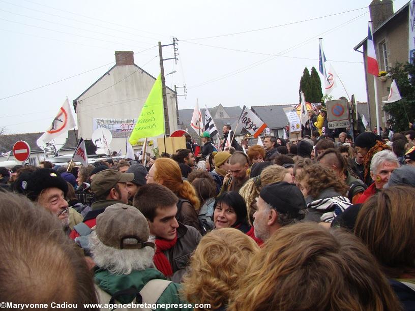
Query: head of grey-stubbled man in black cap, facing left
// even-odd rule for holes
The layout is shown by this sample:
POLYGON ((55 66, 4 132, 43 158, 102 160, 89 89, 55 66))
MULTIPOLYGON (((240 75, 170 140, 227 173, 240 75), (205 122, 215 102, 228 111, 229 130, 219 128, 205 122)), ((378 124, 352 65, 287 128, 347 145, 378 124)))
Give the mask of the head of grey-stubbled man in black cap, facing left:
POLYGON ((281 227, 301 221, 306 214, 303 194, 297 186, 285 181, 264 186, 256 206, 255 236, 264 241, 281 227))

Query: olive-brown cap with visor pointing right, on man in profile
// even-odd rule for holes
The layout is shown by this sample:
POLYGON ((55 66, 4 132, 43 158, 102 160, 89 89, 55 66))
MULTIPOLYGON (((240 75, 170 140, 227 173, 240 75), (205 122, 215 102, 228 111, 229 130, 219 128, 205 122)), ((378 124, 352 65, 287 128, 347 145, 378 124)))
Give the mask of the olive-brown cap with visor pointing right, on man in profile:
POLYGON ((128 182, 134 179, 134 173, 121 173, 113 169, 98 172, 91 183, 91 190, 100 197, 114 188, 117 182, 128 182))

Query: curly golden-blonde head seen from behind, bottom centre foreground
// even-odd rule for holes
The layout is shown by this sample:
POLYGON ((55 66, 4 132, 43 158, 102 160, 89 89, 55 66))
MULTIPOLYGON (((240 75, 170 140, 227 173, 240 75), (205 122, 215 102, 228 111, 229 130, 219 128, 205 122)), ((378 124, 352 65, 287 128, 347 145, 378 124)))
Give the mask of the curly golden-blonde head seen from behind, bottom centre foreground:
MULTIPOLYGON (((258 245, 238 229, 223 228, 206 234, 190 260, 184 277, 183 294, 190 303, 210 303, 224 310, 235 283, 246 273, 258 245)), ((196 309, 195 309, 196 310, 196 309)))

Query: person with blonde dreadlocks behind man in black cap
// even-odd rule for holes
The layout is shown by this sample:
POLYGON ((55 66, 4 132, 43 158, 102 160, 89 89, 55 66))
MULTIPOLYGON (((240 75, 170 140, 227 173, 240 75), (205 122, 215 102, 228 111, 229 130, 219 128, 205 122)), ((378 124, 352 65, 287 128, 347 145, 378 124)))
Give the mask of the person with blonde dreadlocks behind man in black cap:
POLYGON ((256 211, 256 198, 259 197, 262 187, 277 181, 292 183, 292 176, 286 168, 279 165, 270 165, 264 168, 259 176, 250 178, 239 191, 246 202, 251 224, 254 221, 253 214, 256 211))

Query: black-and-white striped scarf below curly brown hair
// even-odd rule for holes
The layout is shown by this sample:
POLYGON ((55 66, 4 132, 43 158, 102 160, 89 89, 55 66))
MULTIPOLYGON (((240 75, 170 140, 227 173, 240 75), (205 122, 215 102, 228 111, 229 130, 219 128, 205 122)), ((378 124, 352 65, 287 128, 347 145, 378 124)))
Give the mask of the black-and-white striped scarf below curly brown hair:
POLYGON ((320 220, 324 223, 331 223, 338 215, 344 212, 344 210, 352 205, 348 198, 342 196, 336 196, 331 198, 315 200, 307 204, 307 208, 314 208, 321 211, 325 211, 320 217, 320 220))

